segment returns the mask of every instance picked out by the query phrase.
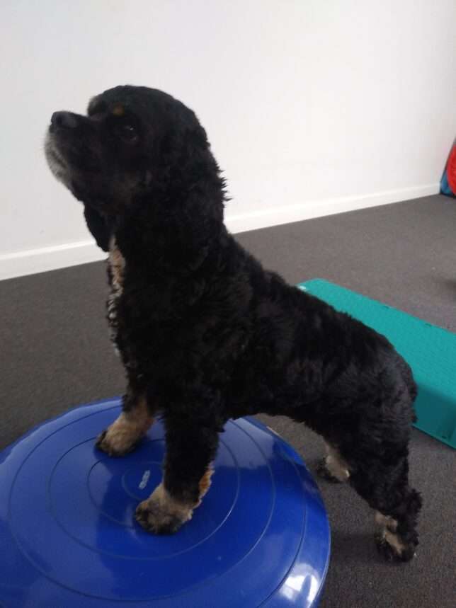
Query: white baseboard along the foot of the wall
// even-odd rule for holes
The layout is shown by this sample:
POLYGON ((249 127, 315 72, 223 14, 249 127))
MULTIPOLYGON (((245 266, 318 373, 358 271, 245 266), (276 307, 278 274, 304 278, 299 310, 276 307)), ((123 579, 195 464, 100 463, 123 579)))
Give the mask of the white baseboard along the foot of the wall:
MULTIPOLYGON (((381 193, 362 196, 345 196, 334 199, 307 201, 297 203, 296 205, 270 207, 237 215, 230 215, 228 213, 225 224, 227 224, 227 228, 231 232, 245 232, 247 230, 289 224, 290 222, 300 222, 303 219, 353 211, 365 207, 376 207, 377 205, 411 200, 413 198, 438 194, 439 190, 439 184, 435 183, 412 188, 401 188, 400 190, 387 190, 381 193)), ((89 240, 30 249, 17 253, 6 253, 0 256, 0 280, 96 262, 104 258, 106 258, 106 253, 101 251, 94 241, 89 240)))

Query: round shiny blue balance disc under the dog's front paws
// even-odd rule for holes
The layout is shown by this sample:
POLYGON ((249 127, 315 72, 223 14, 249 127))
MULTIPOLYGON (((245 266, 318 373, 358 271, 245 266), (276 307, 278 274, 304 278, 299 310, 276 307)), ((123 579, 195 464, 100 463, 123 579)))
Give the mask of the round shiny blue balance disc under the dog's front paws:
POLYGON ((119 413, 118 399, 76 408, 0 452, 2 608, 317 605, 329 524, 288 444, 227 423, 203 503, 154 536, 134 515, 161 481, 164 430, 110 458, 95 439, 119 413))

